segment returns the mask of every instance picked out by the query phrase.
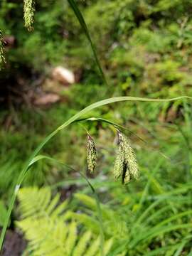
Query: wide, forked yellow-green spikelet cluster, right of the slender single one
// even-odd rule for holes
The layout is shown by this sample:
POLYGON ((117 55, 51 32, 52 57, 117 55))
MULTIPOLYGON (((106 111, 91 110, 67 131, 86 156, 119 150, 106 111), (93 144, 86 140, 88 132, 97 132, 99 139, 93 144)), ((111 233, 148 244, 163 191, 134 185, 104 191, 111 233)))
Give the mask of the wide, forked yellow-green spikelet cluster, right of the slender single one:
POLYGON ((137 160, 129 140, 118 131, 119 149, 114 164, 114 177, 122 178, 122 183, 128 183, 132 178, 139 177, 137 160))

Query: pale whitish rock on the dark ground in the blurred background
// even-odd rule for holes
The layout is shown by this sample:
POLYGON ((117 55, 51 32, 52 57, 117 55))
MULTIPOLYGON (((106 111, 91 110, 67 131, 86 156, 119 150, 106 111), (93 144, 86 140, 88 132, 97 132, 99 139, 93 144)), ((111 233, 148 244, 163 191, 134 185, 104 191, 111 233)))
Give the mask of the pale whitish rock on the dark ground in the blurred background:
POLYGON ((53 78, 63 85, 72 85, 75 82, 75 75, 70 70, 58 66, 53 69, 53 78))

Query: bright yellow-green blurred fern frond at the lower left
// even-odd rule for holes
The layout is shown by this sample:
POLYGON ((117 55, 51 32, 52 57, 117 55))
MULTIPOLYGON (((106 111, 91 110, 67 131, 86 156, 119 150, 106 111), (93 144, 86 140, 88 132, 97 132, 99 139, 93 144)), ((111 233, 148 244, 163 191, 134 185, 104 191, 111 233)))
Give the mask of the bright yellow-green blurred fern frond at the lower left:
MULTIPOLYGON (((22 188, 18 191, 18 200, 23 220, 16 225, 28 240, 29 255, 100 255, 100 236, 91 230, 80 232, 74 215, 69 211, 63 213, 68 203, 58 205, 59 196, 51 199, 50 188, 22 188)), ((111 247, 112 240, 104 242, 103 256, 107 256, 111 247)))

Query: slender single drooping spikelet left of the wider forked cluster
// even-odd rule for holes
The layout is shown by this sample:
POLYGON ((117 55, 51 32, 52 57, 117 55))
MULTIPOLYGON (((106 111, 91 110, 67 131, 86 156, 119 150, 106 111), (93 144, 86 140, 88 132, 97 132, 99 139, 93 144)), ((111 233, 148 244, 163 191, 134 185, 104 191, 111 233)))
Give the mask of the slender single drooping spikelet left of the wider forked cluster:
POLYGON ((95 142, 90 136, 90 134, 87 134, 87 168, 92 174, 95 170, 97 162, 97 151, 95 147, 95 142))

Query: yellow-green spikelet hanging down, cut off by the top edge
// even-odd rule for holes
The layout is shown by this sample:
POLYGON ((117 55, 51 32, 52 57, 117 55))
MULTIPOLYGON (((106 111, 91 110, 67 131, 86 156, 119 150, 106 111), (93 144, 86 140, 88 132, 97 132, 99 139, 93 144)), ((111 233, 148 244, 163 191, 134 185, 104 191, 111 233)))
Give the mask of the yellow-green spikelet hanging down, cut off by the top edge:
POLYGON ((33 21, 34 21, 34 13, 35 13, 35 2, 34 0, 23 0, 24 1, 24 22, 25 27, 28 31, 33 30, 33 21))

